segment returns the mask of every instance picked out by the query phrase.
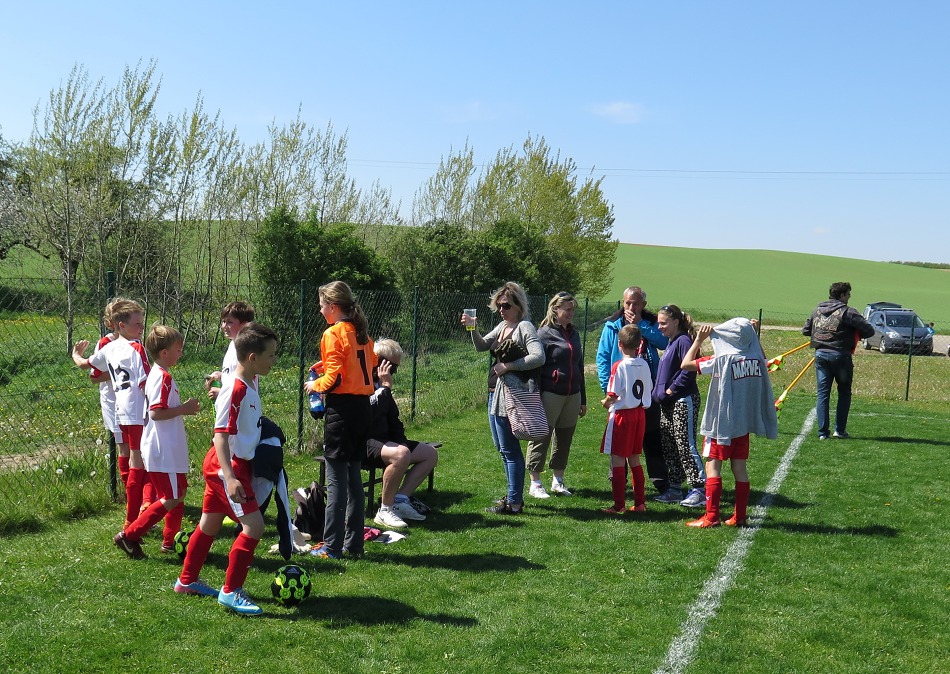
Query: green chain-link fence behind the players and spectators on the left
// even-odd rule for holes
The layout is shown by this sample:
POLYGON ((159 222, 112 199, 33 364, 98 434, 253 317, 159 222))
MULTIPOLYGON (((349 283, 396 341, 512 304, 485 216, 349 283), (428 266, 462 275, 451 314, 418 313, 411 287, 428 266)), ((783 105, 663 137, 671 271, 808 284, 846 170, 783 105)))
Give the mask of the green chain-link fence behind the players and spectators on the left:
MULTIPOLYGON (((287 436, 292 451, 315 452, 320 426, 305 413, 301 384, 319 357, 326 324, 319 312, 316 283, 270 289, 229 287, 218 297, 187 292, 137 297, 122 288, 74 289, 67 297, 53 279, 17 279, 0 285, 0 531, 22 527, 37 516, 95 512, 115 497, 114 449, 104 429, 96 384, 75 367, 72 343, 92 343, 102 334, 107 297, 128 296, 146 309, 146 326, 177 327, 185 335, 185 356, 173 375, 183 398, 202 400, 198 415, 186 417, 192 481, 207 450, 213 406, 204 375, 220 368, 226 349, 219 330, 221 307, 244 299, 257 308, 257 320, 281 337, 277 366, 261 384, 264 412, 287 436), (4 524, 6 523, 6 524, 4 524)), ((478 309, 487 332, 498 320, 485 294, 358 292, 374 338, 397 340, 405 352, 396 394, 403 415, 426 424, 483 405, 488 357, 477 354, 459 325, 464 308, 478 309)), ((547 297, 531 297, 535 322, 543 318, 547 297)), ((596 348, 600 324, 618 303, 580 301, 575 321, 585 350, 596 348)), ((593 362, 593 356, 587 359, 593 362)))

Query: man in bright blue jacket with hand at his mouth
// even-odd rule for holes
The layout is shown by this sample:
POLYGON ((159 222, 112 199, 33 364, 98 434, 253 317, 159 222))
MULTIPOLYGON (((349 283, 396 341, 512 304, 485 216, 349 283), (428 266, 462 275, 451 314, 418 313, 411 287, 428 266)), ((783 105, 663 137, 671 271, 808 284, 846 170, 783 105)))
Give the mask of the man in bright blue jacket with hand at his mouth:
MULTIPOLYGON (((650 365, 650 374, 656 381, 656 368, 660 363, 660 354, 657 349, 665 349, 670 343, 656 322, 656 315, 644 311, 647 305, 647 294, 639 286, 630 286, 623 291, 623 309, 611 316, 600 333, 600 342, 597 345, 597 378, 600 388, 607 392, 607 382, 610 379, 610 368, 623 358, 620 346, 617 344, 617 333, 625 325, 632 324, 640 329, 643 336, 641 353, 639 354, 650 365)), ((663 461, 663 449, 660 442, 660 406, 651 405, 647 409, 647 428, 643 436, 643 454, 646 458, 647 473, 650 481, 661 494, 667 489, 666 463, 663 461)))

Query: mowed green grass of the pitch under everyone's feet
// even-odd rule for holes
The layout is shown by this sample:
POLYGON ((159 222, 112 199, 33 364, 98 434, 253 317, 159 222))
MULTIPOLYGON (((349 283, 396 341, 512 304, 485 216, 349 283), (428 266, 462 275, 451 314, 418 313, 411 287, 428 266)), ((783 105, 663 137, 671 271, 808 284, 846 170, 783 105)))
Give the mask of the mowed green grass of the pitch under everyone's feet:
MULTIPOLYGON (((797 345, 767 333, 769 355, 797 345)), ((780 391, 807 362, 789 358, 780 391)), ((946 381, 950 360, 914 359, 922 390, 903 401, 906 360, 857 358, 848 441, 807 433, 721 605, 683 671, 941 672, 950 656, 950 479, 946 398, 923 399, 946 381), (926 383, 925 383, 926 382, 926 383), (915 397, 916 395, 916 397, 915 397)), ((360 561, 298 556, 314 594, 296 609, 270 598, 283 563, 267 553, 272 526, 247 582, 262 618, 227 614, 212 599, 176 595, 177 559, 147 539, 132 562, 111 542, 111 511, 0 547, 0 668, 10 672, 651 672, 741 532, 683 526, 692 513, 651 503, 644 517, 613 519, 606 461, 598 453, 605 413, 581 420, 567 483, 574 496, 528 499, 523 516, 484 512, 504 491, 484 409, 411 429, 442 440, 434 509, 407 539, 369 543, 360 561)), ((940 393, 946 395, 946 387, 940 393)), ((814 376, 789 395, 775 441, 755 439, 752 504, 765 497, 814 405, 814 376)), ((292 486, 316 476, 290 457, 292 486)), ((550 479, 548 475, 546 479, 550 479)), ((731 512, 726 471, 724 512, 731 512)), ((197 518, 201 485, 188 496, 197 518)), ((270 519, 269 524, 272 525, 270 519)), ((369 522, 369 521, 368 521, 369 522)), ((228 542, 204 571, 222 582, 228 542)), ((711 607, 700 606, 700 609, 711 607)))

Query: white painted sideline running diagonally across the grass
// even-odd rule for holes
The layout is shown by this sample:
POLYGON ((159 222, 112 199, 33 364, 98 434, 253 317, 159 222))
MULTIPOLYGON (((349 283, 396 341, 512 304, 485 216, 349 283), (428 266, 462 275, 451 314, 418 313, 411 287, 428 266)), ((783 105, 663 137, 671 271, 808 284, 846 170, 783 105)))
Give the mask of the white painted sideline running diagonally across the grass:
POLYGON ((732 586, 733 580, 742 570, 742 562, 745 560, 749 548, 752 547, 752 539, 755 538, 756 532, 762 527, 765 514, 769 506, 772 505, 772 499, 778 494, 782 482, 788 476, 788 471, 798 454, 799 447, 814 427, 815 417, 815 408, 812 408, 805 418, 805 423, 802 424, 802 430, 792 440, 792 444, 785 451, 785 456, 779 462, 778 468, 775 469, 775 474, 772 475, 762 500, 749 511, 749 526, 739 529, 736 540, 726 550, 719 561, 719 566, 716 567, 716 570, 703 585, 699 597, 689 607, 687 618, 680 625, 679 635, 673 639, 669 650, 666 652, 666 661, 659 669, 654 670, 653 674, 682 674, 683 670, 693 661, 693 655, 699 645, 699 640, 703 636, 706 623, 716 615, 716 611, 719 610, 719 605, 722 603, 722 596, 732 586))

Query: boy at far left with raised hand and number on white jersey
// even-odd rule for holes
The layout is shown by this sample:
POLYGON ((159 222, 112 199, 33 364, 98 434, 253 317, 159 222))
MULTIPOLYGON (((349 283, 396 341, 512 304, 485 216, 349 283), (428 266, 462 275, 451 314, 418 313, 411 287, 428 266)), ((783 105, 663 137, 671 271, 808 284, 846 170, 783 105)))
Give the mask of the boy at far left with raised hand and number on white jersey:
POLYGON ((125 483, 125 526, 139 516, 142 491, 148 478, 142 462, 142 430, 145 427, 145 380, 149 364, 139 341, 145 330, 145 310, 134 300, 112 302, 112 320, 119 337, 108 346, 83 358, 88 342, 73 349, 73 362, 84 370, 108 372, 115 391, 115 418, 122 439, 129 445, 129 475, 125 483))

